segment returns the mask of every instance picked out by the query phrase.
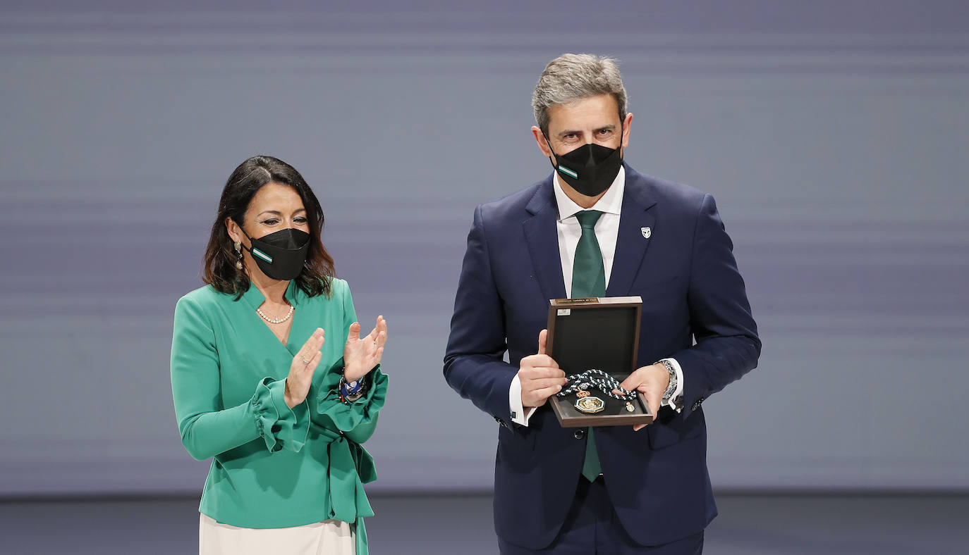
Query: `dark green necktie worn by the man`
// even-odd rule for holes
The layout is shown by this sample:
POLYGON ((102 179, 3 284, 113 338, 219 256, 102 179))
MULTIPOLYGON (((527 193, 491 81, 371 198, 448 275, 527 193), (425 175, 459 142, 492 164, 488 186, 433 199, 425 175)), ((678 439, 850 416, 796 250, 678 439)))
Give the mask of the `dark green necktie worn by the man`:
MULTIPOLYGON (((603 266, 603 253, 596 240, 596 221, 602 216, 598 210, 583 210, 576 215, 582 226, 582 236, 576 246, 576 260, 572 264, 572 298, 605 297, 606 268, 603 266)), ((585 462, 582 463, 582 476, 589 482, 602 473, 599 453, 596 451, 596 438, 589 427, 585 439, 585 462)))

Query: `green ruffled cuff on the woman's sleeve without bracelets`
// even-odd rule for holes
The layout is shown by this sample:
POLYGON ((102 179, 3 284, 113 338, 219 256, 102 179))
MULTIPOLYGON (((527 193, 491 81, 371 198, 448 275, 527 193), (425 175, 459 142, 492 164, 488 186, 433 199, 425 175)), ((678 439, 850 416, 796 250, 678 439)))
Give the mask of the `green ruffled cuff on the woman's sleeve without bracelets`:
POLYGON ((309 434, 309 404, 299 403, 292 409, 286 404, 286 380, 263 378, 249 404, 256 417, 259 435, 270 452, 288 449, 299 452, 309 434))

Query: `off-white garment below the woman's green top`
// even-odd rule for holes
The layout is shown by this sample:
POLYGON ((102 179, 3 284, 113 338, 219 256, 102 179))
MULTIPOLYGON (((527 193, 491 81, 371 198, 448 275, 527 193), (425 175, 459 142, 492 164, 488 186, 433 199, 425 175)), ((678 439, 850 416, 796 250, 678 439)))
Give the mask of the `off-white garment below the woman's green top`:
POLYGON ((356 555, 352 526, 324 520, 293 528, 239 528, 199 513, 199 555, 356 555))

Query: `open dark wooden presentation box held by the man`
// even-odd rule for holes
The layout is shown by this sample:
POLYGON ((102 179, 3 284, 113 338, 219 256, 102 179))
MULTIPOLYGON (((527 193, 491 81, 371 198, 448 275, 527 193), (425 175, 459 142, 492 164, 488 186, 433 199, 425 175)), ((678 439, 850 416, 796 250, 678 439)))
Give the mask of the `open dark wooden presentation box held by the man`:
MULTIPOLYGON (((640 297, 552 299, 548 303, 547 353, 566 376, 598 368, 622 382, 637 368, 642 314, 640 297)), ((605 401, 602 411, 594 414, 579 412, 576 394, 548 398, 559 424, 585 427, 653 422, 643 394, 632 401, 634 411, 629 412, 626 401, 612 398, 595 388, 589 391, 592 396, 605 401)))

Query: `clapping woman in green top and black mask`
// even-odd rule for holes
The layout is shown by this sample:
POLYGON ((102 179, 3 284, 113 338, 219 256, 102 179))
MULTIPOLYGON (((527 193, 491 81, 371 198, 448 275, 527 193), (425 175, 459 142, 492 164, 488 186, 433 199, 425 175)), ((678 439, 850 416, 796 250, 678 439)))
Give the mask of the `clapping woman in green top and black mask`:
POLYGON ((297 170, 242 162, 219 201, 206 285, 175 306, 172 396, 185 449, 212 458, 199 550, 366 553, 361 444, 387 394, 387 322, 360 336, 297 170))

